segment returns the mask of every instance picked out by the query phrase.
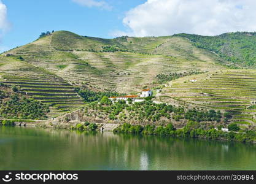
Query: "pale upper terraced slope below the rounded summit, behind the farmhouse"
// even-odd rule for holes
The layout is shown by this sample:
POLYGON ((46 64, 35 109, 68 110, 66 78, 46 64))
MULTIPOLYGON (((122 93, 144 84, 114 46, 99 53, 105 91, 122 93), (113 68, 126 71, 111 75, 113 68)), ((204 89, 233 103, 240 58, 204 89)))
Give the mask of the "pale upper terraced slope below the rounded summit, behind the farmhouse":
POLYGON ((153 87, 152 82, 161 73, 224 68, 218 56, 192 46, 185 38, 171 36, 99 39, 56 31, 7 53, 21 56, 71 85, 119 93, 139 92, 145 85, 153 87), (103 52, 109 44, 127 52, 103 52))

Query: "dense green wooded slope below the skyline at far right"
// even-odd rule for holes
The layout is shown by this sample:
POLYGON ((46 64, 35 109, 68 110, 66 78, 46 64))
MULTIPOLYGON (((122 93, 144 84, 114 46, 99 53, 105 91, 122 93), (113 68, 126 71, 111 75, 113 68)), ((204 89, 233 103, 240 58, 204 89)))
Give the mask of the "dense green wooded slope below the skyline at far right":
POLYGON ((219 36, 200 36, 195 34, 176 34, 186 37, 192 44, 217 53, 221 58, 255 68, 256 60, 256 33, 236 32, 225 33, 219 36))

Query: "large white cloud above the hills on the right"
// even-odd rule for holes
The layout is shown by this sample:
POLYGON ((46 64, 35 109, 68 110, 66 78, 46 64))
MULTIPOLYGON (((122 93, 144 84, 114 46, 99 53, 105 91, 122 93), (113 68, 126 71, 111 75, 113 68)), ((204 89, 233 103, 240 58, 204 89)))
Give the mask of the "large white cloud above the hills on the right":
POLYGON ((190 33, 213 36, 256 31, 254 0, 148 0, 126 12, 128 31, 115 36, 167 36, 190 33))

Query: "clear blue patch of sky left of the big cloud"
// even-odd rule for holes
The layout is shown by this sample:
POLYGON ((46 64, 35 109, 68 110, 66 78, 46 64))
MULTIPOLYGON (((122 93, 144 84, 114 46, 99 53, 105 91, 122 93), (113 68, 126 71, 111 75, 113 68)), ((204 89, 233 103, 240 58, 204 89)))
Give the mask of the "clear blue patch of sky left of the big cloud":
POLYGON ((88 7, 72 0, 2 0, 7 7, 7 20, 10 23, 0 42, 2 50, 28 44, 37 39, 41 32, 52 30, 111 38, 115 29, 126 29, 122 24, 125 12, 144 1, 105 2, 110 9, 88 7))

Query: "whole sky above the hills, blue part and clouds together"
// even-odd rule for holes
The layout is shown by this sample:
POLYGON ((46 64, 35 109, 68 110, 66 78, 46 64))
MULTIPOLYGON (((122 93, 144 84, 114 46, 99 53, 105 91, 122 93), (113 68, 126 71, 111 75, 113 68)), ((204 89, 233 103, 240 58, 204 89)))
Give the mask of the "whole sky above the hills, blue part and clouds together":
POLYGON ((52 30, 103 38, 256 31, 255 12, 255 0, 0 0, 0 52, 52 30))

